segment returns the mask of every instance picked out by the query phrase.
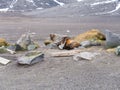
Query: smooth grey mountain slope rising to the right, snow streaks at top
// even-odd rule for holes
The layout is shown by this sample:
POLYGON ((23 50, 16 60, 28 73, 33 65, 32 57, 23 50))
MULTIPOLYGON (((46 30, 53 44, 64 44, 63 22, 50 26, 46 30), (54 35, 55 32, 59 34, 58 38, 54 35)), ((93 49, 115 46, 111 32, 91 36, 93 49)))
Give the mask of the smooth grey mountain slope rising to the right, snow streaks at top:
POLYGON ((45 10, 36 10, 25 15, 37 17, 74 17, 86 15, 120 15, 120 1, 118 0, 83 0, 45 10))

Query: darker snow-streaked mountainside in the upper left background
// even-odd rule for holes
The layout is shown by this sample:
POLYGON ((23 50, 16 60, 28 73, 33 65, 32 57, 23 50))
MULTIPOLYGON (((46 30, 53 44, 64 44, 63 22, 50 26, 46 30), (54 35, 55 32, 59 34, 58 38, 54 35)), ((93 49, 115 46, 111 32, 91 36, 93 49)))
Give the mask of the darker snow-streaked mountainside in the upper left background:
POLYGON ((76 0, 0 0, 0 11, 30 11, 63 6, 76 0))

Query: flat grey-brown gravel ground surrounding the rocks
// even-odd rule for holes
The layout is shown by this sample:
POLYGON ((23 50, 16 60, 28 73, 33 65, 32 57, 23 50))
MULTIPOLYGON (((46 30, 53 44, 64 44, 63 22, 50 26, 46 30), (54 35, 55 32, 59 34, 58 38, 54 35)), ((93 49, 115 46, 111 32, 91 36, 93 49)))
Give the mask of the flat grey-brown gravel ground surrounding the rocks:
MULTIPOLYGON (((36 33, 33 39, 40 43, 39 50, 42 51, 43 40, 50 33, 75 36, 93 28, 120 33, 119 23, 119 17, 57 19, 1 16, 0 37, 14 43, 21 34, 30 30, 36 33)), ((32 66, 17 64, 17 57, 25 52, 0 54, 12 60, 6 66, 0 65, 0 90, 119 90, 120 59, 103 49, 91 49, 92 52, 101 53, 92 61, 74 61, 72 57, 51 57, 46 54, 43 62, 32 66)))

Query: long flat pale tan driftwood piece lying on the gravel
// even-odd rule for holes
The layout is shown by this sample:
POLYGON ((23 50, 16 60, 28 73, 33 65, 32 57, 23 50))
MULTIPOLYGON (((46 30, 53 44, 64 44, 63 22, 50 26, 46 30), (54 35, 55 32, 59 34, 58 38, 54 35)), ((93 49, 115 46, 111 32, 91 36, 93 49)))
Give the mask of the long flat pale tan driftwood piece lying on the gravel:
POLYGON ((81 51, 83 51, 82 49, 79 50, 64 50, 64 51, 55 51, 55 52, 49 52, 51 56, 53 57, 69 57, 69 56, 73 56, 77 53, 80 53, 81 51))

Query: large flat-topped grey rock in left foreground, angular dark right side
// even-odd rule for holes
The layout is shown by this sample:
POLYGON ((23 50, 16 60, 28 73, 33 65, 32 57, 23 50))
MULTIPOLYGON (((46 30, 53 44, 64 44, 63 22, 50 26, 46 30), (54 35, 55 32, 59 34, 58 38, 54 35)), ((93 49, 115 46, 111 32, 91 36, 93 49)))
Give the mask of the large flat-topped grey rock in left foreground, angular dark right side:
POLYGON ((44 54, 42 52, 30 52, 25 56, 18 58, 18 64, 32 65, 44 60, 44 54))

